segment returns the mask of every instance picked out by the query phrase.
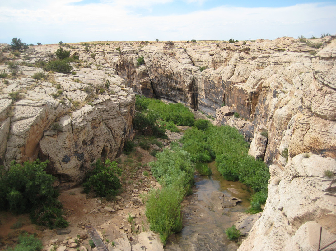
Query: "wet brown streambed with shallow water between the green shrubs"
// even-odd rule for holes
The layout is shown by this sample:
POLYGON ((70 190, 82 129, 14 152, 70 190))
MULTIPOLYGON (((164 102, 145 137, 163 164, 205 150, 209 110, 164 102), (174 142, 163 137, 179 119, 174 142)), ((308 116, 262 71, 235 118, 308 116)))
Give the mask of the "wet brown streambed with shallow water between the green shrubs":
POLYGON ((183 229, 181 233, 169 237, 166 251, 237 249, 237 245, 228 240, 224 231, 238 220, 238 214, 248 208, 251 191, 240 182, 225 181, 214 162, 209 167, 213 173, 211 177, 195 175, 194 193, 182 202, 183 229), (237 197, 241 202, 236 206, 222 208, 211 199, 213 195, 219 194, 218 191, 228 197, 237 197))

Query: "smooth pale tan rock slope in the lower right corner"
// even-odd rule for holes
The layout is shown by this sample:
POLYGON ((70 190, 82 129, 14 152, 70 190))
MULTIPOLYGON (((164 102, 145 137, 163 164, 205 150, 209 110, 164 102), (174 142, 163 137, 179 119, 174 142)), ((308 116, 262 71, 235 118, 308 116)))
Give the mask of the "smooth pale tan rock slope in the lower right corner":
POLYGON ((318 222, 325 231, 336 230, 334 224, 330 224, 336 217, 336 200, 327 195, 333 179, 324 174, 325 169, 336 171, 336 160, 320 155, 306 156, 293 157, 280 183, 268 185, 262 216, 238 250, 301 250, 300 247, 309 243, 310 235, 304 234, 308 231, 304 226, 307 221, 314 226, 318 222))

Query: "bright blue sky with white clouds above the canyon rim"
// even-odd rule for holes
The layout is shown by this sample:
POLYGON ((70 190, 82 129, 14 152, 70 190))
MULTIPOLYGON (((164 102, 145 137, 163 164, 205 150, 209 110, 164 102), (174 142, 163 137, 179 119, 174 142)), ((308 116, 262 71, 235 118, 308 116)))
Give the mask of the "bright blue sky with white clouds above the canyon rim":
POLYGON ((336 34, 336 0, 2 0, 0 43, 256 40, 336 34))

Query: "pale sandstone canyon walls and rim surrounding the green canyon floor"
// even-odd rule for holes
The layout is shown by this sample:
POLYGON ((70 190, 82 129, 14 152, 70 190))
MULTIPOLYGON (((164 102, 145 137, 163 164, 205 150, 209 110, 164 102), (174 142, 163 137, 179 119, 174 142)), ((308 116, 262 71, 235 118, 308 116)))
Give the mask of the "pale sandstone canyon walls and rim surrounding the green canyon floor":
MULTIPOLYGON (((14 56, 2 44, 0 60, 19 73, 0 83, 0 164, 48 159, 55 186, 71 188, 134 137, 135 93, 181 102, 237 128, 269 165, 265 208, 238 250, 305 250, 320 227, 336 240, 336 178, 325 174, 336 172, 336 39, 311 42, 322 46, 290 37, 62 45, 82 61, 46 80, 29 66, 54 59, 59 45, 14 56)), ((5 64, 0 72, 11 75, 5 64)))

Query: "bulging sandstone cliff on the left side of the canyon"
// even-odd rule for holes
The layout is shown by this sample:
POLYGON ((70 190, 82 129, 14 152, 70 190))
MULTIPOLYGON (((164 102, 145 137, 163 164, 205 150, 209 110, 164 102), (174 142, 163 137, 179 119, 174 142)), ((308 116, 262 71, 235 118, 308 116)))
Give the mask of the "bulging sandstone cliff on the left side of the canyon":
MULTIPOLYGON (((67 188, 83 181, 93 161, 120 155, 125 140, 134 136, 135 94, 111 68, 105 69, 107 73, 95 66, 78 67, 73 74, 63 74, 29 67, 49 60, 57 48, 32 48, 26 51, 26 60, 14 59, 28 66, 0 65, 8 76, 17 70, 0 84, 0 161, 8 167, 12 160, 48 159, 48 171, 67 188), (33 79, 38 72, 46 77, 33 79)), ((13 60, 8 46, 0 49, 8 61, 13 60)))

